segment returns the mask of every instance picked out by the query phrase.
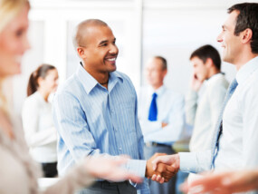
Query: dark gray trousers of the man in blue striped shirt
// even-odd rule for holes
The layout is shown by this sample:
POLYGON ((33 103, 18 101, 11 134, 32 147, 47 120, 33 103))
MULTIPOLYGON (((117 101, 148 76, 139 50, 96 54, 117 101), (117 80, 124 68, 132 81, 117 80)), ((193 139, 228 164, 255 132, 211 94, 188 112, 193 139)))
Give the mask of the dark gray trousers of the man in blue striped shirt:
POLYGON ((90 188, 82 189, 77 194, 137 194, 137 189, 129 181, 97 181, 90 188))

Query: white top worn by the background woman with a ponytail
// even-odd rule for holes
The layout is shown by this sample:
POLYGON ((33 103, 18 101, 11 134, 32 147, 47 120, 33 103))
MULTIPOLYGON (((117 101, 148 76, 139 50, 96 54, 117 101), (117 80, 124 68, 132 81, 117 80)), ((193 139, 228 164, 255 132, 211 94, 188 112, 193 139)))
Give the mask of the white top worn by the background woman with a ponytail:
POLYGON ((52 105, 39 92, 25 99, 23 112, 25 140, 33 159, 41 162, 57 161, 57 132, 53 126, 52 105))

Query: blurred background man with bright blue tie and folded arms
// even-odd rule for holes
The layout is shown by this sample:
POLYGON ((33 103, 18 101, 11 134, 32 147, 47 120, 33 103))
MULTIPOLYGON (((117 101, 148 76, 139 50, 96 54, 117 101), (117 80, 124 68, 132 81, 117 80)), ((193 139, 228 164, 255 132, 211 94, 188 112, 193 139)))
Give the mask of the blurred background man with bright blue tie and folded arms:
MULTIPOLYGON (((139 123, 143 132, 146 159, 156 152, 173 154, 171 145, 184 128, 184 97, 167 89, 163 81, 167 74, 167 61, 161 56, 148 60, 146 77, 149 85, 139 92, 139 123), (155 95, 155 97, 154 97, 155 95), (155 110, 153 112, 153 103, 155 110)), ((151 193, 175 193, 176 178, 161 185, 149 180, 151 193)))

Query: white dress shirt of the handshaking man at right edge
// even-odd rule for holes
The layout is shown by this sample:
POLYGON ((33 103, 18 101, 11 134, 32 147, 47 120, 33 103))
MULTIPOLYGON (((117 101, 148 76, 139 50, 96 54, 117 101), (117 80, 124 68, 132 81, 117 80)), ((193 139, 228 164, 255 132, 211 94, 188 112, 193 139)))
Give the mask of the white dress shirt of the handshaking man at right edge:
MULTIPOLYGON (((244 64, 236 81, 238 86, 225 106, 215 170, 258 168, 258 57, 244 64)), ((211 168, 211 150, 179 154, 180 170, 211 168)))

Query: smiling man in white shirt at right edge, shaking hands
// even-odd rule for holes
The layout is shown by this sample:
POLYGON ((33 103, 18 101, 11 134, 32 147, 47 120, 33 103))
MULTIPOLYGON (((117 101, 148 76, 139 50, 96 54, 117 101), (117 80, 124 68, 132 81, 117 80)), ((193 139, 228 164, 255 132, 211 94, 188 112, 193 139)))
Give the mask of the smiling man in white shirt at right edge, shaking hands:
MULTIPOLYGON (((236 67, 236 87, 225 105, 221 135, 215 135, 216 149, 161 156, 154 166, 173 163, 193 172, 258 167, 258 4, 233 5, 228 13, 217 41, 223 47, 223 60, 236 67)), ((204 192, 205 187, 198 189, 204 192)))

